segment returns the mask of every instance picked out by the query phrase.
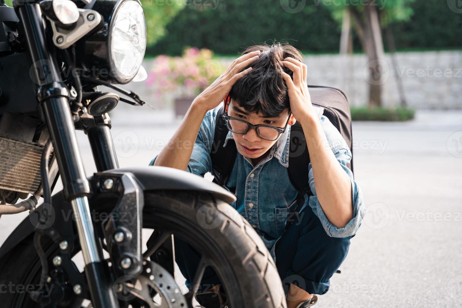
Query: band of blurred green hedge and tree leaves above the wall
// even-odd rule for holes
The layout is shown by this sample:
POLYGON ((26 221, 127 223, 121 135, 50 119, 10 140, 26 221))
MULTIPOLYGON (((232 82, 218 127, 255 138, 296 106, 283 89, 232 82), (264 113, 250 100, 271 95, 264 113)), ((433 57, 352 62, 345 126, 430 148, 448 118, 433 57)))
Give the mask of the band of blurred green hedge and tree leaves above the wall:
MULTIPOLYGON (((395 33, 397 50, 462 47, 462 14, 448 10, 442 1, 376 0, 384 8, 382 26, 390 23, 395 33)), ((149 46, 146 55, 180 55, 187 46, 234 55, 254 43, 270 43, 268 37, 304 53, 337 53, 342 12, 350 2, 358 0, 306 0, 304 9, 292 14, 274 0, 141 0, 149 46)), ((12 6, 12 0, 5 3, 12 6)), ((357 36, 353 37, 354 51, 361 52, 357 36)))

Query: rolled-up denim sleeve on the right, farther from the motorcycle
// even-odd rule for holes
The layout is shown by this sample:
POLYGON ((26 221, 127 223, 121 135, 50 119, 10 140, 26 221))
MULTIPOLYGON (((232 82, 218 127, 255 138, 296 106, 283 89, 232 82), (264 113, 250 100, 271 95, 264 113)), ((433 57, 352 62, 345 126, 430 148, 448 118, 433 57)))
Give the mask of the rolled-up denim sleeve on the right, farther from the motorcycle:
MULTIPOLYGON (((323 117, 324 118, 324 117, 323 117)), ((324 119, 324 121, 328 121, 324 119)), ((312 196, 308 199, 308 205, 313 209, 316 216, 321 220, 322 226, 328 236, 331 237, 348 237, 353 236, 361 225, 361 221, 365 216, 365 205, 363 200, 363 193, 358 183, 353 180, 353 172, 347 167, 347 164, 350 163, 352 159, 351 151, 346 145, 345 140, 337 131, 337 129, 330 123, 322 123, 326 137, 328 138, 329 145, 334 152, 337 161, 345 170, 346 174, 351 181, 351 198, 353 204, 353 218, 346 224, 344 228, 335 227, 326 217, 326 214, 322 210, 321 204, 316 195, 316 187, 313 176, 313 169, 311 168, 311 163, 309 164, 309 184, 311 188, 312 196), (332 129, 333 128, 333 129, 332 129)))

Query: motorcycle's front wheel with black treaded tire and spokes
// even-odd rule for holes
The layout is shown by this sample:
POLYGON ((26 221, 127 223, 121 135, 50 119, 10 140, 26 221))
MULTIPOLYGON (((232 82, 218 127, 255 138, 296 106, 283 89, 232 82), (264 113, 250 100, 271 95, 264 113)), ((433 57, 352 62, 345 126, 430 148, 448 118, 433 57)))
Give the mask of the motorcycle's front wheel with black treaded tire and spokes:
MULTIPOLYGON (((199 290, 202 275, 209 268, 223 285, 230 308, 286 307, 282 283, 271 255, 252 226, 229 204, 209 193, 196 191, 150 191, 145 192, 144 198, 143 235, 151 230, 157 235, 148 242, 144 252, 146 258, 170 235, 200 252, 192 287, 182 292, 188 307, 194 306, 194 295, 199 290)), ((55 203, 54 206, 58 205, 55 203)), ((78 245, 76 247, 75 255, 79 253, 78 245)), ((43 243, 43 248, 49 261, 59 251, 57 245, 50 241, 43 243)), ((153 262, 147 264, 149 272, 153 271, 156 265, 153 262)), ((19 243, 1 260, 0 267, 0 285, 6 282, 37 284, 41 267, 32 238, 19 243)), ((155 287, 150 290, 151 295, 156 291, 155 287)), ((155 301, 156 297, 152 300, 155 301)), ((0 301, 5 307, 38 307, 24 292, 2 292, 0 301)), ((127 304, 126 300, 121 301, 121 307, 127 304)), ((130 305, 169 307, 131 302, 130 305)), ((91 304, 82 307, 91 307, 91 304)))

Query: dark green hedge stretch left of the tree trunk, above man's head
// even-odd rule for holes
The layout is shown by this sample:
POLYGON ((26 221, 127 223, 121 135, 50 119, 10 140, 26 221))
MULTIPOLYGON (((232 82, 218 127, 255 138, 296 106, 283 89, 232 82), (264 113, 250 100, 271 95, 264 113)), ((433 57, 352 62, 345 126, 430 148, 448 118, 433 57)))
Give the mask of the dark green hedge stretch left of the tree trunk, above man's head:
MULTIPOLYGON (((202 1, 213 2, 213 1, 202 1)), ((237 54, 261 42, 286 41, 302 51, 338 52, 339 26, 323 6, 285 12, 279 0, 219 0, 216 9, 188 5, 167 25, 168 35, 148 54, 181 54, 185 46, 237 54)), ((307 4, 310 0, 307 1, 307 4)))

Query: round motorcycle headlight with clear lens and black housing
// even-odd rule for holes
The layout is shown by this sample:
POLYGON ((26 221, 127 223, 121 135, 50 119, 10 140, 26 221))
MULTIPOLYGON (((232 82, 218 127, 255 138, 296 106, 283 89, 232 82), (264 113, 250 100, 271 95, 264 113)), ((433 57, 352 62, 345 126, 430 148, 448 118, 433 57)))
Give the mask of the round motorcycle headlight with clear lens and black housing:
MULTIPOLYGON (((89 7, 91 5, 91 7, 89 7)), ((96 0, 103 25, 83 38, 81 66, 90 77, 126 84, 138 72, 146 51, 146 20, 139 0, 96 0)), ((84 76, 85 77, 85 76, 84 76)))

